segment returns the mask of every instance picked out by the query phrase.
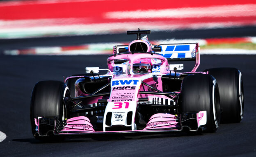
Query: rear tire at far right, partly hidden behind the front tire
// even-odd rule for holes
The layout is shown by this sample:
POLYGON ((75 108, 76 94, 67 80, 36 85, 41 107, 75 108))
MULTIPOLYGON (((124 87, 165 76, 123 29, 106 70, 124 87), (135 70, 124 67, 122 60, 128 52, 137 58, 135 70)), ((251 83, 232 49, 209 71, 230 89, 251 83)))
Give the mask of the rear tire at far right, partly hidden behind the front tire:
POLYGON ((221 123, 239 123, 244 114, 242 73, 235 68, 213 68, 207 71, 219 85, 221 123))

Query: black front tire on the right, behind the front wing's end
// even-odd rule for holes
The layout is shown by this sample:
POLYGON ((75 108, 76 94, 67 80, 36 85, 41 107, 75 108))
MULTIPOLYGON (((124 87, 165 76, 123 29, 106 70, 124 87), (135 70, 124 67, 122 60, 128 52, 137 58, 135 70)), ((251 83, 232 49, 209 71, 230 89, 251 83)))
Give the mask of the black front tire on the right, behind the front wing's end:
POLYGON ((181 85, 181 108, 183 113, 207 112, 206 130, 216 132, 220 122, 219 89, 214 77, 210 75, 189 75, 181 85))

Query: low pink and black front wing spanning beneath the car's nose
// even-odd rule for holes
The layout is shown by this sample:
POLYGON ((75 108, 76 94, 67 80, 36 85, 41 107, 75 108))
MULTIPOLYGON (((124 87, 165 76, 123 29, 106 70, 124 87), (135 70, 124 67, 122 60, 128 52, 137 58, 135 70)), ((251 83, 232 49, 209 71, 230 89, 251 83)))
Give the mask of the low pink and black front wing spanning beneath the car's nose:
POLYGON ((99 135, 135 136, 169 134, 181 131, 197 132, 206 129, 206 117, 206 111, 184 113, 179 116, 158 113, 151 117, 143 130, 117 131, 95 131, 89 119, 84 116, 67 119, 65 124, 59 123, 55 117, 39 117, 38 120, 35 119, 35 124, 37 125, 37 132, 35 134, 39 136, 58 135, 94 137, 99 135), (48 128, 48 131, 46 132, 40 128, 48 128))

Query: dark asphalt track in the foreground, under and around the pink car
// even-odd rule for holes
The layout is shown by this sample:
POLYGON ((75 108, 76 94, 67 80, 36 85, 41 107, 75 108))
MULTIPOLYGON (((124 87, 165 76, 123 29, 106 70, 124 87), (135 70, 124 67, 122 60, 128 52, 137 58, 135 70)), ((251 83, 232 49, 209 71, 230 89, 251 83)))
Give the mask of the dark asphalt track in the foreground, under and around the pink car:
MULTIPOLYGON (((128 157, 128 156, 256 156, 256 55, 202 55, 199 71, 236 67, 242 72, 245 115, 238 124, 221 124, 216 133, 152 135, 126 138, 81 138, 44 143, 30 129, 30 94, 41 80, 63 80, 84 73, 86 66, 107 68, 107 55, 6 56, 0 55, 0 157, 128 157)), ((187 70, 190 70, 187 68, 187 70)))

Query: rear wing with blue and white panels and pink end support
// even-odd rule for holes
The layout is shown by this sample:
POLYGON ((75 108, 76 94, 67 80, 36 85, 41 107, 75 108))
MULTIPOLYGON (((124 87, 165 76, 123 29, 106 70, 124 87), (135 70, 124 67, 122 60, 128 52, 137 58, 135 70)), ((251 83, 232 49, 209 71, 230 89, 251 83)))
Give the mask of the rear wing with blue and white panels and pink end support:
POLYGON ((198 43, 185 44, 160 44, 161 52, 157 52, 171 61, 196 61, 192 72, 195 72, 200 64, 200 47, 198 43))

